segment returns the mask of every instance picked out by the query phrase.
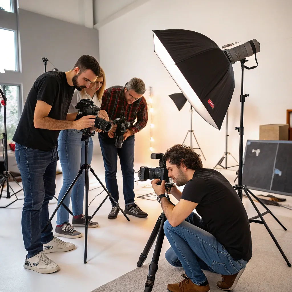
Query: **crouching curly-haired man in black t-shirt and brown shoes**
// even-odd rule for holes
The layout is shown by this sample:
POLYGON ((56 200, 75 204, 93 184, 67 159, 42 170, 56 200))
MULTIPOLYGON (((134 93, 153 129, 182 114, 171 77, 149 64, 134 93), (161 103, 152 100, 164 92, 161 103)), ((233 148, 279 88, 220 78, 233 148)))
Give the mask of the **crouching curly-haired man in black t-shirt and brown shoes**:
POLYGON ((164 194, 165 182, 152 181, 168 219, 164 233, 171 248, 166 260, 185 269, 184 280, 169 284, 168 291, 209 292, 202 270, 222 275, 217 282, 221 290, 234 289, 252 256, 249 221, 238 194, 220 172, 203 168, 191 147, 174 145, 164 160, 173 182, 185 185, 182 193, 172 187, 170 193, 179 201, 174 206, 164 194))

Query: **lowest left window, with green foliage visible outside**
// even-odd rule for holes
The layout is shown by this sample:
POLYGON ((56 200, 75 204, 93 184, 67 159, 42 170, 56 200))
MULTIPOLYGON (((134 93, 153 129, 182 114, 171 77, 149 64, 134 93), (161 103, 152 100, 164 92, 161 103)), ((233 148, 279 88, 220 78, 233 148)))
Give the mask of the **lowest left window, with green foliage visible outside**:
MULTIPOLYGON (((7 140, 11 141, 18 125, 20 111, 20 86, 0 84, 0 88, 7 98, 6 123, 7 140)), ((4 133, 4 109, 0 103, 0 133, 4 133)), ((3 137, 2 137, 3 138, 3 137)))

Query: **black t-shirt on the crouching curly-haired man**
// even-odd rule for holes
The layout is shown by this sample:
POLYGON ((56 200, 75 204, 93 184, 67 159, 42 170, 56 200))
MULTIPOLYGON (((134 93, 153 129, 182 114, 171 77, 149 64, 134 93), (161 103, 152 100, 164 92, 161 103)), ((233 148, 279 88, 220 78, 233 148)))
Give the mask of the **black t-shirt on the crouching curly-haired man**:
POLYGON ((194 172, 183 189, 182 199, 198 203, 196 211, 210 232, 234 260, 250 260, 251 231, 245 208, 232 185, 218 171, 194 172))

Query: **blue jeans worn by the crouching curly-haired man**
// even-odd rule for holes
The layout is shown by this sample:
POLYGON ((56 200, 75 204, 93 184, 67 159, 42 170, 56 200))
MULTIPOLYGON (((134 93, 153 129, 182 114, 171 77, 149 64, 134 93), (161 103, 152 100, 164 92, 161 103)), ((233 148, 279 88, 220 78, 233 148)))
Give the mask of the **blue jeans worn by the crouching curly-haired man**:
POLYGON ((202 269, 233 275, 247 264, 245 260, 233 260, 225 247, 204 230, 204 222, 195 213, 176 227, 166 220, 164 233, 171 245, 166 251, 166 260, 173 266, 183 267, 196 285, 207 280, 202 269))

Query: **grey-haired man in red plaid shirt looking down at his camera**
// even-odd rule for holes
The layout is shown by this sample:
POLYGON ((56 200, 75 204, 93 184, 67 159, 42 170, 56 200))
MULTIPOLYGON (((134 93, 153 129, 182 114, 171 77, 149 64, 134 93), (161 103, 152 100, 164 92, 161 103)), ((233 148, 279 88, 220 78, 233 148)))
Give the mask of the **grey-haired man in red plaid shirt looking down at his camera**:
MULTIPOLYGON (((125 116, 126 120, 132 126, 124 134, 124 143, 121 148, 114 146, 114 133, 117 125, 114 125, 108 133, 98 134, 105 166, 105 184, 107 190, 112 194, 117 203, 119 203, 119 190, 116 178, 119 155, 123 174, 123 193, 126 204, 125 213, 139 218, 145 218, 148 214, 143 212, 135 204, 134 199, 134 134, 141 131, 148 121, 147 102, 143 97, 145 91, 145 84, 139 78, 131 79, 124 87, 112 86, 106 89, 102 96, 102 105, 100 108, 107 112, 111 121, 125 116), (135 123, 136 119, 137 122, 135 123)), ((119 208, 112 200, 111 202, 112 211, 107 218, 115 219, 119 213, 119 208)))

